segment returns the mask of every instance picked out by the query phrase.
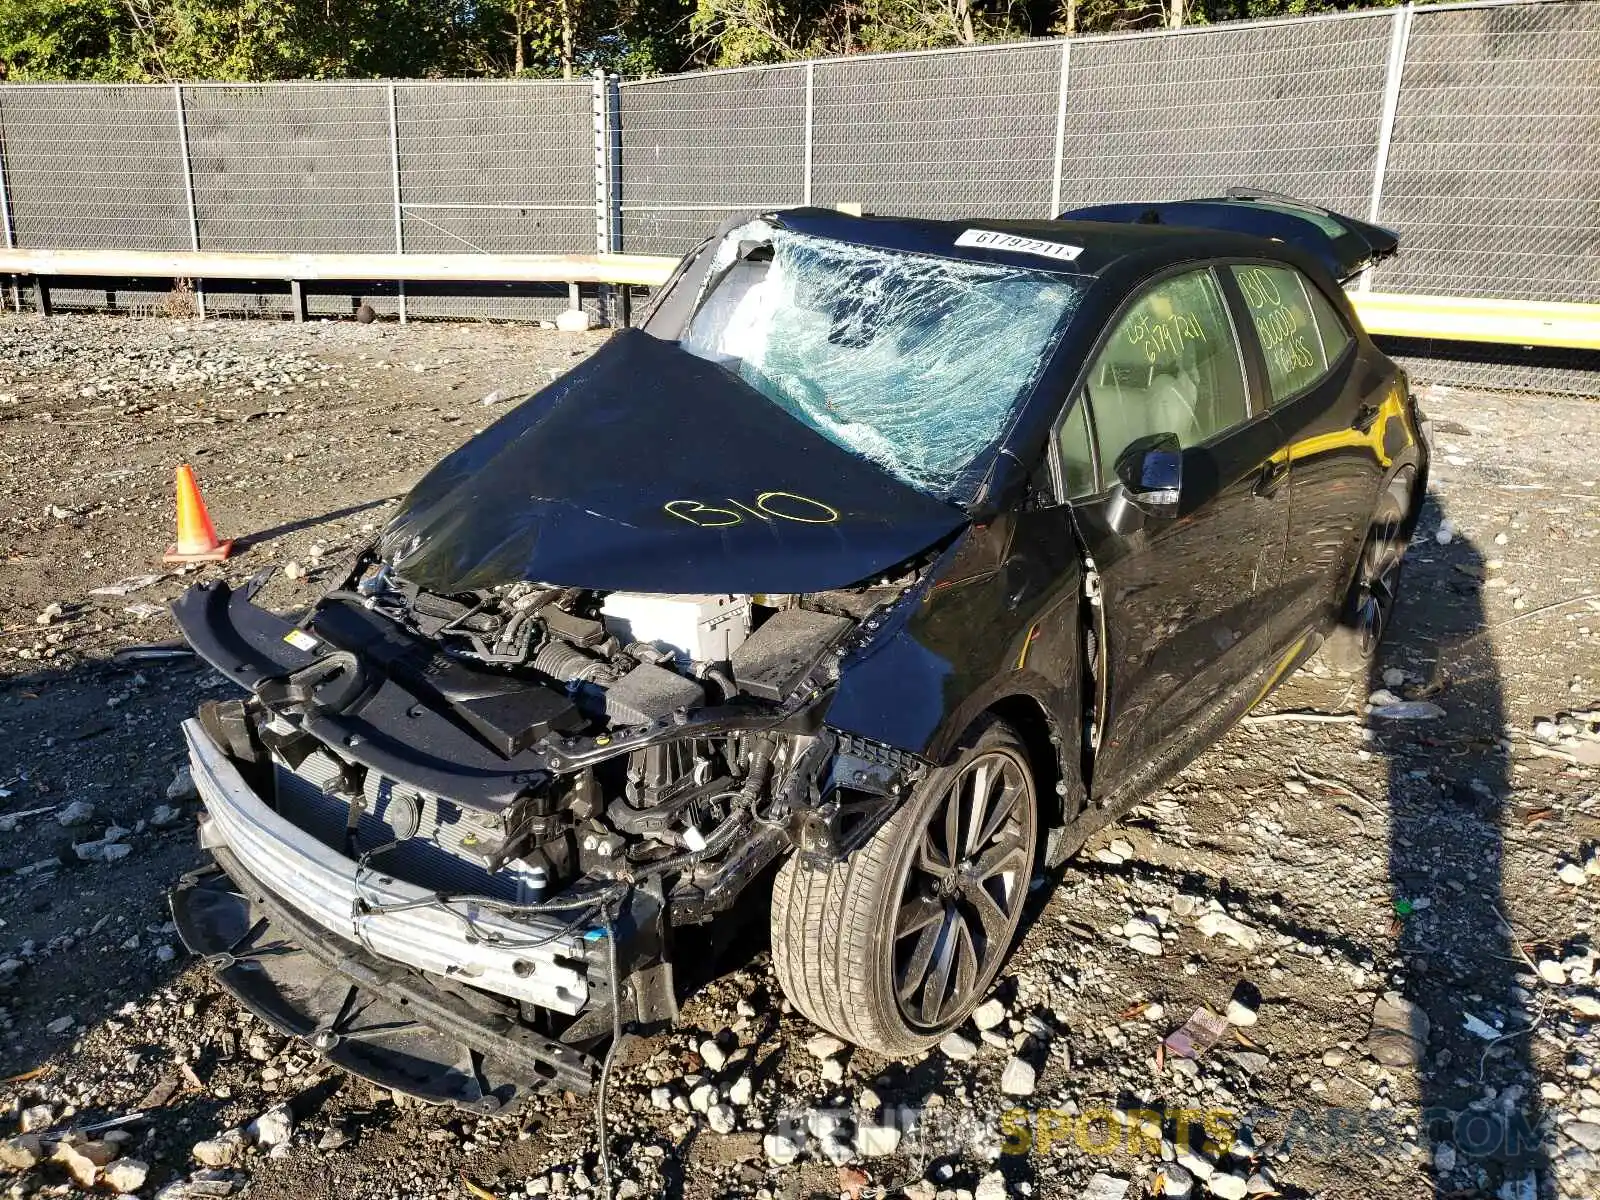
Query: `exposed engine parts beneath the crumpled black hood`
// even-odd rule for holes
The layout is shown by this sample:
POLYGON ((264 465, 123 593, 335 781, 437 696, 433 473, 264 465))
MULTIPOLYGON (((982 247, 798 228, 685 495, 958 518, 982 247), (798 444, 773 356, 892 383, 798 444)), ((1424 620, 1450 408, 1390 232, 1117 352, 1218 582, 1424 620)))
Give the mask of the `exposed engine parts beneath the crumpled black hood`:
MULTIPOLYGON (((349 589, 318 605, 309 630, 368 661, 381 642, 400 653, 406 634, 426 640, 442 659, 421 674, 437 680, 448 715, 507 760, 554 750, 542 778, 504 811, 466 818, 485 827, 472 845, 493 846, 478 856, 490 875, 480 883, 491 893, 538 901, 581 877, 670 874, 698 880, 717 909, 738 894, 739 877, 715 869, 738 866, 726 858, 736 837, 757 824, 787 834, 790 810, 832 790, 826 774, 808 778, 797 784, 802 803, 779 805, 802 762, 821 774, 838 757, 837 749, 806 755, 821 731, 802 714, 837 678, 846 635, 914 579, 805 597, 602 594, 530 582, 445 597, 365 562, 349 589), (691 714, 707 709, 747 728, 701 736, 691 714), (648 744, 603 755, 650 731, 658 736, 648 744), (560 750, 579 744, 594 762, 562 770, 560 750)), ((888 774, 853 770, 850 778, 882 776, 888 789, 888 774)), ((784 840, 774 837, 771 850, 784 840)), ((696 910, 685 907, 685 915, 696 910)))

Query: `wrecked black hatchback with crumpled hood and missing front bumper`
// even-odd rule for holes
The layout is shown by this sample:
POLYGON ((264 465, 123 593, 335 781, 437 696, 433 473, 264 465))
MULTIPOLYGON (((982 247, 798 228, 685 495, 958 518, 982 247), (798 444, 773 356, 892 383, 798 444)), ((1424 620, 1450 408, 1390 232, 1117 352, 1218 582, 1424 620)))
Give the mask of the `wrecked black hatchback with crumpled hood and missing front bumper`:
POLYGON ((816 1024, 915 1053, 1030 880, 1318 650, 1370 659, 1427 477, 1264 194, 1056 221, 730 221, 642 328, 429 472, 302 616, 176 605, 187 946, 400 1091, 587 1091, 770 914, 816 1024))

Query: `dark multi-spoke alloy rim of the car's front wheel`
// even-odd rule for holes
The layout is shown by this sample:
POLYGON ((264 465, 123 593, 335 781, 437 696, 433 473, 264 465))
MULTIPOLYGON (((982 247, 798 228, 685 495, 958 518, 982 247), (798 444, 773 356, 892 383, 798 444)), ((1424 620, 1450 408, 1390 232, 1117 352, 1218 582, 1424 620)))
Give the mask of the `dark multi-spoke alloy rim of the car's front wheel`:
POLYGON ((958 1019, 994 978, 1027 896, 1034 813, 1032 774, 1005 749, 930 806, 894 914, 894 995, 914 1027, 958 1019))

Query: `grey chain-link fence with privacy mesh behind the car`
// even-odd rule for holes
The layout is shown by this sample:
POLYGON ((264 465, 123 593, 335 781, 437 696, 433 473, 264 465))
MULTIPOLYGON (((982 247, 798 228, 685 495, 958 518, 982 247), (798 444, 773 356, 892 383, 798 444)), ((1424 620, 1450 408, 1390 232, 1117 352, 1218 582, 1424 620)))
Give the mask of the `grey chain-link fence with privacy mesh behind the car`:
MULTIPOLYGON (((1398 229, 1400 258, 1363 286, 1600 302, 1600 0, 624 83, 0 86, 0 218, 21 246, 677 254, 742 210, 1043 218, 1235 184, 1398 229)), ((373 302, 565 306, 493 288, 373 302)), ((1501 358, 1466 374, 1506 379, 1501 358)), ((1550 363, 1530 386, 1600 390, 1584 355, 1550 363)))

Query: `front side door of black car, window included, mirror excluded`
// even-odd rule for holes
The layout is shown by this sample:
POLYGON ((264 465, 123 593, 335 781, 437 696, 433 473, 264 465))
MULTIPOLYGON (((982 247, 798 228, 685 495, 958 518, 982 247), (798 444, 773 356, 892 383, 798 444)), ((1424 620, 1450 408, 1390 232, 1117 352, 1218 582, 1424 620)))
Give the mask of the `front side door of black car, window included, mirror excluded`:
POLYGON ((1216 736, 1278 650, 1269 597, 1288 488, 1253 374, 1218 270, 1181 270, 1110 323, 1058 426, 1062 494, 1098 576, 1090 787, 1102 803, 1216 736), (1149 515, 1117 462, 1162 435, 1176 435, 1182 478, 1176 510, 1149 515))

